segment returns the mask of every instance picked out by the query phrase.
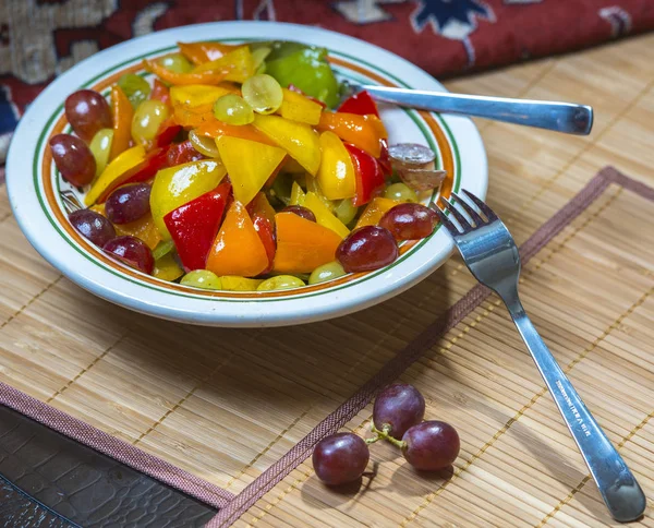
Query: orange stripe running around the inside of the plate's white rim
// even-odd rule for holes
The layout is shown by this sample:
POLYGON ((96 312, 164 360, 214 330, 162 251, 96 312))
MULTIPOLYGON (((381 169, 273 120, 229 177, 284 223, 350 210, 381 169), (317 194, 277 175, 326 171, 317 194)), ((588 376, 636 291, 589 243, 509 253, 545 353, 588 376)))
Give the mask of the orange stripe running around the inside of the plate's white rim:
MULTIPOLYGON (((351 63, 343 59, 339 59, 339 58, 335 58, 335 57, 330 57, 329 61, 335 64, 342 65, 349 70, 359 72, 370 79, 375 80, 376 82, 378 82, 379 84, 382 84, 384 86, 396 86, 395 84, 390 83, 389 81, 382 77, 380 75, 377 75, 376 73, 371 72, 370 70, 366 70, 366 69, 360 67, 359 64, 354 64, 354 63, 351 63)), ((134 73, 140 70, 142 70, 141 64, 134 64, 134 65, 128 67, 128 68, 121 70, 120 72, 113 73, 112 75, 98 82, 97 84, 95 84, 92 87, 92 89, 101 92, 105 88, 107 88, 108 86, 111 86, 112 84, 114 84, 125 73, 134 73)), ((440 188, 440 197, 447 199, 450 196, 452 184, 453 184, 453 175, 455 175, 453 154, 450 148, 450 144, 445 135, 445 132, 443 131, 440 125, 437 123, 437 121, 434 119, 434 117, 431 113, 425 112, 425 111, 419 111, 419 113, 427 123, 427 127, 434 134, 434 137, 436 139, 436 143, 438 144, 438 149, 440 151, 440 155, 443 158, 443 168, 447 172, 446 179, 444 180, 441 188, 440 188)), ((65 119, 65 115, 62 115, 59 118, 59 120, 57 121, 57 123, 55 124, 52 132, 50 134, 50 137, 52 135, 63 132, 63 129, 65 128, 66 124, 68 124, 68 121, 65 119)), ((293 297, 296 293, 304 295, 304 293, 311 293, 311 292, 315 292, 315 291, 325 290, 325 289, 331 288, 334 286, 340 286, 343 284, 351 283, 353 280, 356 280, 360 277, 367 275, 368 273, 372 273, 372 272, 366 272, 366 273, 355 273, 355 274, 351 274, 351 275, 346 275, 341 278, 338 278, 336 280, 330 280, 328 283, 322 283, 322 284, 317 284, 317 285, 313 285, 313 286, 305 286, 300 291, 298 291, 298 290, 281 290, 281 291, 238 292, 237 293, 237 292, 222 291, 222 290, 219 290, 219 291, 201 290, 201 289, 196 289, 196 288, 192 288, 192 287, 187 287, 187 286, 182 286, 177 283, 169 283, 166 280, 160 280, 153 276, 136 272, 135 269, 133 269, 129 266, 125 266, 125 265, 114 261, 113 259, 109 257, 105 252, 102 252, 96 245, 92 244, 86 238, 84 238, 82 235, 80 235, 80 232, 75 228, 73 228, 71 223, 68 220, 68 218, 64 216, 63 212, 59 207, 59 204, 57 203, 57 200, 55 197, 55 188, 52 184, 51 167, 52 167, 52 155, 51 155, 49 148, 46 148, 44 159, 41 163, 43 185, 44 185, 48 205, 50 206, 51 211, 53 212, 55 217, 59 221, 59 225, 61 226, 61 228, 77 244, 80 244, 82 248, 84 248, 86 251, 88 251, 94 257, 96 257, 97 260, 102 262, 106 266, 109 266, 112 269, 114 269, 121 274, 128 275, 129 277, 132 277, 134 279, 154 285, 158 288, 170 289, 172 291, 181 291, 184 293, 193 293, 193 295, 199 296, 199 297, 211 297, 211 298, 218 298, 218 299, 219 298, 225 298, 225 299, 282 298, 282 297, 293 297)), ((404 254, 407 251, 409 251, 411 248, 413 248, 419 242, 420 242, 420 240, 413 240, 413 241, 410 241, 410 242, 403 244, 400 248, 400 254, 404 254)))

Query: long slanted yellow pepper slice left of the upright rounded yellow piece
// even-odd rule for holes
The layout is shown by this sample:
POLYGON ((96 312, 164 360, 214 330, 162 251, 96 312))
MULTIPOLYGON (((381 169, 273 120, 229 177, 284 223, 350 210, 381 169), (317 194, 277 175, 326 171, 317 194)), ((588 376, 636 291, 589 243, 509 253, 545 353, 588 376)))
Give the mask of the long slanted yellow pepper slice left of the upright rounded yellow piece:
POLYGON ((252 123, 289 153, 310 173, 316 175, 320 166, 318 134, 305 123, 289 121, 279 116, 255 115, 252 123))

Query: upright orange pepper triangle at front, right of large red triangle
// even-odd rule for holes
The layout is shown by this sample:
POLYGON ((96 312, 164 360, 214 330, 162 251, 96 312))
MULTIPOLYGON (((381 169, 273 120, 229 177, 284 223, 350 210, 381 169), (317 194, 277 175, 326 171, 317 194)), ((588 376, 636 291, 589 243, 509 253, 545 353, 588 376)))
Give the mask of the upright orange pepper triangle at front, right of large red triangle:
POLYGON ((247 209, 234 200, 209 251, 207 269, 218 276, 256 277, 267 267, 266 248, 247 209))

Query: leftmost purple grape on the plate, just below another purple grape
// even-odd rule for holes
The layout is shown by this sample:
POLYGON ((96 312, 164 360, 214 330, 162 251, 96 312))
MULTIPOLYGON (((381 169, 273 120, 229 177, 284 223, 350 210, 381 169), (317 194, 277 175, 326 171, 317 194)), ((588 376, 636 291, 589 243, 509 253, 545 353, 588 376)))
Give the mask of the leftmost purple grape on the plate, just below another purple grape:
POLYGON ((75 187, 93 181, 96 163, 86 143, 71 134, 53 135, 49 143, 55 165, 65 181, 75 187))

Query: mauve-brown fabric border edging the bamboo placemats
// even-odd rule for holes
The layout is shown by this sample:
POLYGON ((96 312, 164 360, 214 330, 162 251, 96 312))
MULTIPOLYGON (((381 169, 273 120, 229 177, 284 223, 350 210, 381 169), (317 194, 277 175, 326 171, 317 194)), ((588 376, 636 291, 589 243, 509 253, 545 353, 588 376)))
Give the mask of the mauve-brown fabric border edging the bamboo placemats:
MULTIPOLYGON (((606 167, 521 245, 520 254, 523 264, 529 262, 570 221, 585 211, 611 183, 617 183, 647 200, 654 201, 654 188, 633 180, 613 167, 606 167)), ((481 285, 472 288, 445 314, 400 350, 393 359, 388 361, 351 398, 327 416, 304 439, 238 495, 233 495, 1 382, 0 405, 10 407, 70 439, 219 508, 219 513, 207 526, 214 528, 227 527, 302 464, 310 456, 317 442, 326 435, 337 432, 348 423, 373 399, 382 387, 400 376, 426 350, 432 348, 445 333, 459 324, 489 296, 491 290, 481 285)))

